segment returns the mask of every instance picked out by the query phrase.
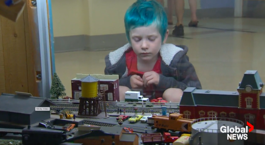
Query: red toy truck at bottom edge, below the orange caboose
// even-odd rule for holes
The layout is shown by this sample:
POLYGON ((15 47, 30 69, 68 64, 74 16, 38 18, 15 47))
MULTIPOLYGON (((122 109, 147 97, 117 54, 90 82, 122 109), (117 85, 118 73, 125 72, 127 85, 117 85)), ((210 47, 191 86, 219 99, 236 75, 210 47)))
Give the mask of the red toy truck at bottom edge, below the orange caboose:
POLYGON ((154 144, 162 144, 170 145, 170 143, 174 143, 179 137, 172 137, 170 133, 164 132, 163 136, 161 133, 151 133, 151 134, 142 134, 142 142, 143 145, 154 145, 154 144))

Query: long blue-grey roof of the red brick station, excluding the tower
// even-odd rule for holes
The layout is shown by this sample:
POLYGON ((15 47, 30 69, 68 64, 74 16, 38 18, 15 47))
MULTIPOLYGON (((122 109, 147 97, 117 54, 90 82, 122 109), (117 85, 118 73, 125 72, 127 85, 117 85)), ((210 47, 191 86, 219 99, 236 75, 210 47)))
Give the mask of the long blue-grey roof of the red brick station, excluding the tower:
POLYGON ((195 87, 192 87, 184 90, 180 105, 238 107, 238 96, 238 92, 201 89, 197 90, 195 87), (192 101, 193 103, 190 103, 192 101))

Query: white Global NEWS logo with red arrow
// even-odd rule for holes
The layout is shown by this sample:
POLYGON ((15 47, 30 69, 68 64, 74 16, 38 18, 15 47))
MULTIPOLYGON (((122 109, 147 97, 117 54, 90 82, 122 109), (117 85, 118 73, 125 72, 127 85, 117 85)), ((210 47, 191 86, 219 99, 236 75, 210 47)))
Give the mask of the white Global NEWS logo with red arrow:
POLYGON ((222 126, 220 128, 222 133, 227 133, 227 140, 233 142, 235 140, 247 140, 247 133, 251 132, 254 129, 254 126, 247 122, 247 126, 244 127, 229 127, 229 126, 222 126), (248 127, 250 127, 248 129, 248 127))

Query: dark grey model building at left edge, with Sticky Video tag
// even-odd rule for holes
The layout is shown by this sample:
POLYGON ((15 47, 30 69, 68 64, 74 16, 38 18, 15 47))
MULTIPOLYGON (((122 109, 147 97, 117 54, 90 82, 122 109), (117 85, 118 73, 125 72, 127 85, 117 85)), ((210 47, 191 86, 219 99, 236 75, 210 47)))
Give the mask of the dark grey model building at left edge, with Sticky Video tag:
POLYGON ((50 111, 36 111, 35 107, 57 105, 40 97, 4 94, 0 95, 0 121, 13 124, 35 124, 51 118, 50 111))

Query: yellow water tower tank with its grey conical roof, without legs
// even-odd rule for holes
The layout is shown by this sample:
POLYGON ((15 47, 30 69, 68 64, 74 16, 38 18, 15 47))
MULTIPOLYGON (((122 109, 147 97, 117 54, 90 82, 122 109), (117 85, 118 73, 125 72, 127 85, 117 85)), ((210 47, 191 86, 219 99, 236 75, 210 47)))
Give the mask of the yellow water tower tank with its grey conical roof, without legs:
POLYGON ((98 97, 98 82, 99 82, 98 79, 89 75, 81 79, 80 81, 81 81, 82 97, 84 98, 98 97))

